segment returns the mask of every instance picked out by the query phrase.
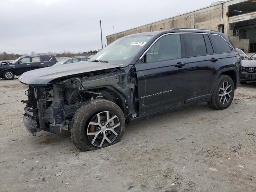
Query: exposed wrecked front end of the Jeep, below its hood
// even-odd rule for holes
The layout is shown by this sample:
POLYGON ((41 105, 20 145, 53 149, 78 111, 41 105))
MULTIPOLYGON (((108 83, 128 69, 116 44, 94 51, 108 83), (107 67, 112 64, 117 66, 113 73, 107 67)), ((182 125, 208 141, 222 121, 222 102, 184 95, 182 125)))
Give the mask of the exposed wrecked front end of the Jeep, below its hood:
POLYGON ((120 69, 88 73, 83 76, 58 79, 46 86, 29 86, 24 114, 24 125, 30 134, 45 130, 52 133, 68 130, 74 113, 88 100, 105 98, 118 104, 126 117, 133 105, 134 85, 129 75, 120 69))

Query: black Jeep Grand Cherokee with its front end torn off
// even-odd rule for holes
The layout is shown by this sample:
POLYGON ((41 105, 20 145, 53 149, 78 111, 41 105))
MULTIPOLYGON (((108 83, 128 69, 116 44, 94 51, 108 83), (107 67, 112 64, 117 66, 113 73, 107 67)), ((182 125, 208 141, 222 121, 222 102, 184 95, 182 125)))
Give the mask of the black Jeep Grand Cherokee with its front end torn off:
POLYGON ((222 33, 133 34, 87 62, 22 74, 29 85, 24 124, 31 134, 70 129, 78 148, 94 150, 118 142, 126 120, 192 102, 227 108, 240 71, 240 56, 222 33))

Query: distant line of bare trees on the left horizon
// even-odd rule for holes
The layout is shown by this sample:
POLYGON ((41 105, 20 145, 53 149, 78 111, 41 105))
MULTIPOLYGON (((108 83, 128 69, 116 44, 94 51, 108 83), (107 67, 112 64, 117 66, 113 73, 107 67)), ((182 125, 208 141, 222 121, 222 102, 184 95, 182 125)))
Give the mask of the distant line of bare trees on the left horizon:
POLYGON ((96 50, 90 50, 88 52, 70 52, 70 51, 63 51, 61 53, 58 52, 47 52, 47 53, 37 53, 32 51, 30 54, 13 54, 13 53, 6 53, 6 52, 2 52, 0 53, 0 60, 4 61, 4 60, 16 60, 17 58, 19 58, 20 56, 28 56, 28 55, 55 55, 56 57, 76 57, 76 56, 89 56, 89 55, 94 55, 96 54, 98 51, 96 50))

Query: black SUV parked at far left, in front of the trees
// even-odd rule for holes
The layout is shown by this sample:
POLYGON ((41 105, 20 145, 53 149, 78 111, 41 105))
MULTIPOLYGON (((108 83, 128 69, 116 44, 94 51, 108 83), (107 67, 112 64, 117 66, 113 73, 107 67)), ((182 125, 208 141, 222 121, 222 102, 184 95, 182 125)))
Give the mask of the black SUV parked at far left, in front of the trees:
POLYGON ((30 70, 49 67, 56 64, 56 62, 54 55, 22 56, 12 63, 2 62, 0 64, 0 78, 11 80, 14 76, 30 70))

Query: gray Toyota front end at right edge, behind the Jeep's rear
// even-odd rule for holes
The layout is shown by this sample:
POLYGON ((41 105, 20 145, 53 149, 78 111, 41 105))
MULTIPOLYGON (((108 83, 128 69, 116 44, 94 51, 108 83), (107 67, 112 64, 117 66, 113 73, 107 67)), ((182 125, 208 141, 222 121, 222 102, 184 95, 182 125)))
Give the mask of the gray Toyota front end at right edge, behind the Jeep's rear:
POLYGON ((242 74, 240 83, 256 82, 256 54, 242 61, 242 74))

